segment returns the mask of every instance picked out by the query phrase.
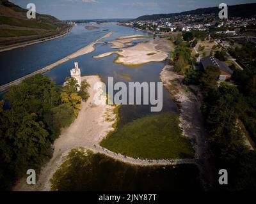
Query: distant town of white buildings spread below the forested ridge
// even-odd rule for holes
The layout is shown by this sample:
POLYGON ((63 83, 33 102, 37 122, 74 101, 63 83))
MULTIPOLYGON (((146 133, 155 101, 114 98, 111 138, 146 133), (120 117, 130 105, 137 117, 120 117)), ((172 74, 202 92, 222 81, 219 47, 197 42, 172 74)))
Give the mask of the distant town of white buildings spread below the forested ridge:
POLYGON ((159 18, 156 20, 132 20, 124 22, 123 25, 135 27, 145 31, 174 32, 174 31, 211 31, 217 34, 236 36, 241 27, 255 25, 255 18, 232 17, 220 20, 216 13, 200 15, 177 15, 170 18, 159 18), (230 27, 232 29, 230 29, 230 27), (212 31, 212 28, 214 28, 212 31))

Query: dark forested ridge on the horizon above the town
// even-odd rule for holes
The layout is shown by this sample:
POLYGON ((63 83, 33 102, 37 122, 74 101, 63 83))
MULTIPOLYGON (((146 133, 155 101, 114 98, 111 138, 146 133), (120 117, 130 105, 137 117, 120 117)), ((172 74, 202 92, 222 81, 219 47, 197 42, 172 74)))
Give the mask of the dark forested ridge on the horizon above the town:
MULTIPOLYGON (((200 15, 200 14, 216 13, 216 15, 218 15, 219 11, 220 9, 218 7, 198 8, 196 10, 184 11, 180 13, 144 15, 136 18, 136 20, 157 20, 159 18, 170 18, 175 15, 189 15, 189 14, 200 15)), ((228 17, 242 17, 242 18, 256 17, 256 3, 228 6, 228 17)))

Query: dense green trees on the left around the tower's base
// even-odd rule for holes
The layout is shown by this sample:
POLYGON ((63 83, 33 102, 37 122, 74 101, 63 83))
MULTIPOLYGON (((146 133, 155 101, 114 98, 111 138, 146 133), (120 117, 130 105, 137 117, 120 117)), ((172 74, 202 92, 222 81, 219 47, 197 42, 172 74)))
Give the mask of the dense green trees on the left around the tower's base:
POLYGON ((76 119, 82 100, 88 98, 87 88, 83 82, 77 92, 74 78, 58 87, 38 74, 8 89, 0 103, 1 190, 10 189, 28 169, 40 170, 51 158, 51 144, 61 128, 76 119))

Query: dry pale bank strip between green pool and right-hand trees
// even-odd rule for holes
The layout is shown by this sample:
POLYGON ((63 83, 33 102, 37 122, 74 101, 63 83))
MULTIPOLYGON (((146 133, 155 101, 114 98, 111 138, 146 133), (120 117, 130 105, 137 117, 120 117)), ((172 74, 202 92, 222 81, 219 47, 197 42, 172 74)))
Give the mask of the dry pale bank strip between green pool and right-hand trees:
POLYGON ((206 140, 207 132, 200 110, 202 105, 200 97, 195 96, 188 87, 181 84, 183 77, 174 73, 173 66, 164 66, 160 78, 179 106, 182 134, 193 140, 196 162, 205 190, 211 189, 215 182, 210 161, 211 153, 206 140))

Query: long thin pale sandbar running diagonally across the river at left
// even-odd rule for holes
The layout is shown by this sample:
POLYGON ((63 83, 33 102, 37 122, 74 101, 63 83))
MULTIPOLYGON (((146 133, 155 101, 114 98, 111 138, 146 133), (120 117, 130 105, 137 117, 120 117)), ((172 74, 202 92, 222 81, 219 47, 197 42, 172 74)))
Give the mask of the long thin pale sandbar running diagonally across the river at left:
POLYGON ((104 38, 109 38, 112 34, 113 34, 113 32, 110 32, 110 33, 102 36, 98 40, 95 40, 92 43, 90 43, 89 45, 87 45, 86 47, 81 48, 80 50, 77 50, 73 54, 68 55, 67 57, 64 57, 63 59, 60 59, 57 62, 54 62, 54 63, 52 63, 48 66, 45 66, 45 68, 38 69, 37 71, 34 71, 33 73, 30 73, 29 75, 26 75, 24 77, 18 78, 17 80, 14 80, 13 82, 1 85, 0 86, 0 92, 6 91, 6 89, 8 89, 12 85, 20 84, 20 82, 22 82, 22 80, 24 80, 24 78, 31 77, 31 76, 33 76, 35 74, 38 74, 38 73, 45 73, 46 71, 49 71, 52 68, 55 68, 56 66, 59 66, 60 64, 63 64, 64 62, 69 61, 70 59, 74 59, 74 58, 79 57, 81 55, 85 55, 85 54, 88 54, 90 52, 93 52, 95 50, 95 45, 97 43, 99 43, 100 40, 103 40, 104 38))

